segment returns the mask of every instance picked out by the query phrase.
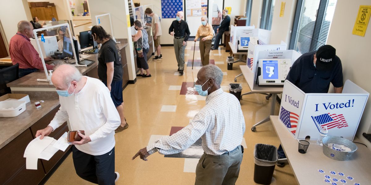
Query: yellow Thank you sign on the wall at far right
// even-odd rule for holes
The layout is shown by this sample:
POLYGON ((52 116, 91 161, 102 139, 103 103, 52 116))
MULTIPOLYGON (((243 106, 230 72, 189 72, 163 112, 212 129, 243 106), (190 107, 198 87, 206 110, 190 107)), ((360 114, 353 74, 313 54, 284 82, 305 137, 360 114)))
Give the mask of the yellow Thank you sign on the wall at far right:
POLYGON ((352 34, 358 36, 365 36, 367 24, 370 20, 371 6, 361 5, 359 6, 359 11, 357 19, 355 20, 352 34))

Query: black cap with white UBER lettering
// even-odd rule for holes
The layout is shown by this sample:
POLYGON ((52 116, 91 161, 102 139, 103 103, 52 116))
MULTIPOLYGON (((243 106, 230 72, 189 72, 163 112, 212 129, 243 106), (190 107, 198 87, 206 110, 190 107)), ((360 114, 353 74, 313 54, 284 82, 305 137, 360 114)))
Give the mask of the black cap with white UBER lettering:
POLYGON ((317 70, 330 70, 334 65, 336 49, 330 45, 323 45, 316 52, 316 68, 317 70))

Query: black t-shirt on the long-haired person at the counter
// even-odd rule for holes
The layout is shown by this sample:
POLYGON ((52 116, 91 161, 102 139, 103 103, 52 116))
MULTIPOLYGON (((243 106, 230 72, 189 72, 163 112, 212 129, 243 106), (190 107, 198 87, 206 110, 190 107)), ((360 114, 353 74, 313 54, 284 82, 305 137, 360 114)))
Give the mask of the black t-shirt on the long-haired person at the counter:
POLYGON ((114 78, 112 81, 122 80, 122 63, 120 50, 114 40, 110 39, 102 44, 98 54, 98 76, 107 81, 107 64, 114 62, 114 78))

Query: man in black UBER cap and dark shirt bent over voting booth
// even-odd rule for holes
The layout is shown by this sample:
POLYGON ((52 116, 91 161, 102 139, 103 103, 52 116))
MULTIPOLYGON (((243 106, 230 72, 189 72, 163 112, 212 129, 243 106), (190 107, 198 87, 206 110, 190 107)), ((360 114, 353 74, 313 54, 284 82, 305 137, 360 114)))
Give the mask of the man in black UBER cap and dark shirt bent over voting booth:
MULTIPOLYGON (((292 65, 286 80, 305 93, 327 93, 330 83, 334 85, 335 93, 341 93, 343 70, 341 60, 336 56, 336 49, 330 45, 324 45, 317 51, 301 55, 292 65)), ((281 145, 278 148, 278 158, 286 158, 281 145)), ((284 166, 285 163, 277 165, 284 166)))

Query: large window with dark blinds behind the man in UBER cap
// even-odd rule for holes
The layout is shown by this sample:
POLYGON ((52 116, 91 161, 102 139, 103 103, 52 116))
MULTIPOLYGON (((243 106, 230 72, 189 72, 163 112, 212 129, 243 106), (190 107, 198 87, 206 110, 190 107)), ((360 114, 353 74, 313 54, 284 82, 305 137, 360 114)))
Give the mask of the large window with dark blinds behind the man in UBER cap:
POLYGON ((289 49, 315 51, 327 42, 336 0, 298 0, 289 49))

